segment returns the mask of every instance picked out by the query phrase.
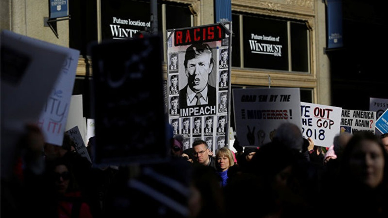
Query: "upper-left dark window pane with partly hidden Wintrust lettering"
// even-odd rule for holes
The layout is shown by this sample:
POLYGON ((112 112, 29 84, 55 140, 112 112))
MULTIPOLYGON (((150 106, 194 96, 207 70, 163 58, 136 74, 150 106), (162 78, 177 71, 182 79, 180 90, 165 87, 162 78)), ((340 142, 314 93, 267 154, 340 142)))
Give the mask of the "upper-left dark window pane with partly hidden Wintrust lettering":
POLYGON ((148 2, 101 0, 102 39, 128 39, 150 28, 149 10, 148 2))

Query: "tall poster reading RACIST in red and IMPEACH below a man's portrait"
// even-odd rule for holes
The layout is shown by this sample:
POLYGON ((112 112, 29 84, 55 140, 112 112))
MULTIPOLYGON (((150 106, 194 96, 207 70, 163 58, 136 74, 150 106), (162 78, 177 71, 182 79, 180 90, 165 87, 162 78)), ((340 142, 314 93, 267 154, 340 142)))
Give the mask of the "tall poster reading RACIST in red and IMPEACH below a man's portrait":
MULTIPOLYGON (((168 117, 189 140, 228 138, 232 23, 167 30, 168 117)), ((220 142, 219 147, 229 146, 220 142)), ((215 151, 215 143, 212 143, 215 151)))

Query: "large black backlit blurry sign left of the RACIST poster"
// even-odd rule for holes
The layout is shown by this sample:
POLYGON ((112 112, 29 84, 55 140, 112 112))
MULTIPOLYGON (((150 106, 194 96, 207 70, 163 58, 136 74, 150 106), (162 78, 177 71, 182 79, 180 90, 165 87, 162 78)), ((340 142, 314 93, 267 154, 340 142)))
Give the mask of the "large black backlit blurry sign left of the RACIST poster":
POLYGON ((96 165, 167 157, 160 49, 157 36, 90 46, 96 165))

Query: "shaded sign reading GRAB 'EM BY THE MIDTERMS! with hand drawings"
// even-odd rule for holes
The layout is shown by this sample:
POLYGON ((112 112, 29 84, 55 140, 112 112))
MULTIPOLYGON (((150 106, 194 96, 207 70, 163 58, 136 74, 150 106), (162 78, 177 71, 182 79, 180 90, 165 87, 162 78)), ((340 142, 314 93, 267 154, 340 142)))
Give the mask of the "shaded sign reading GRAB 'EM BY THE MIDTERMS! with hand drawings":
POLYGON ((246 88, 233 90, 237 139, 242 146, 258 147, 272 141, 284 122, 301 129, 299 88, 246 88))

